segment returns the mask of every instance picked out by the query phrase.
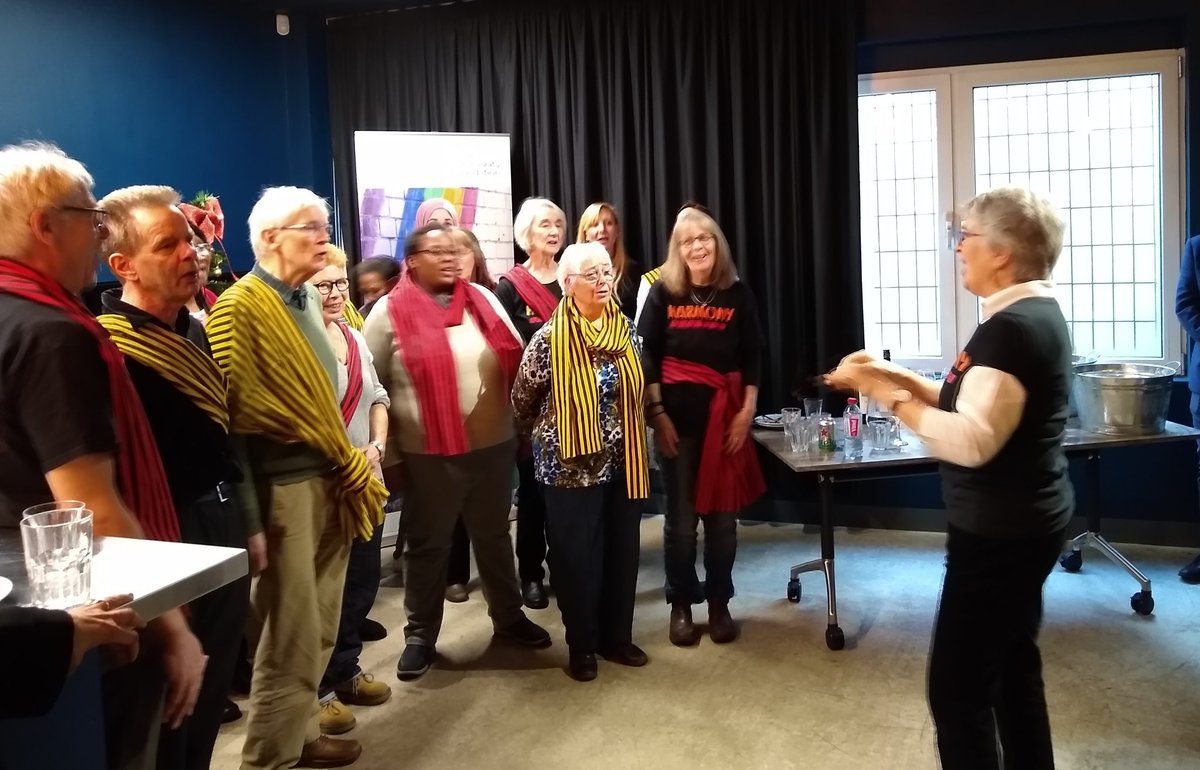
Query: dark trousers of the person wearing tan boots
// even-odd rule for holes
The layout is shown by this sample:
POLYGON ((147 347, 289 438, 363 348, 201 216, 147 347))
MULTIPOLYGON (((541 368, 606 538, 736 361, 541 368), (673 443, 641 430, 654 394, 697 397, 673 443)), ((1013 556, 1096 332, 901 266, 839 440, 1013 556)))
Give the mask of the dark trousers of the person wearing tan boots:
POLYGON ((371 540, 355 540, 350 545, 350 558, 346 563, 346 586, 342 589, 342 616, 337 622, 337 640, 329 657, 329 666, 320 679, 319 696, 334 692, 334 687, 347 682, 360 673, 359 655, 362 654, 362 621, 374 606, 379 592, 379 545, 383 542, 383 525, 376 527, 371 540))

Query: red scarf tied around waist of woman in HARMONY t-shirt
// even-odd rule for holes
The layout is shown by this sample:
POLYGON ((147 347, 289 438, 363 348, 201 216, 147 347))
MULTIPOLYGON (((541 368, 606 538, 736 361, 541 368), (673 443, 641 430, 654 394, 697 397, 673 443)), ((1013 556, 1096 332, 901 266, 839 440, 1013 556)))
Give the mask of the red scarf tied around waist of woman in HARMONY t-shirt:
POLYGON ((662 384, 679 383, 713 389, 713 399, 708 403, 708 429, 696 474, 696 512, 737 513, 767 491, 754 441, 746 438, 737 452, 725 453, 725 433, 730 421, 742 409, 745 391, 742 373, 721 374, 695 361, 662 359, 662 384))

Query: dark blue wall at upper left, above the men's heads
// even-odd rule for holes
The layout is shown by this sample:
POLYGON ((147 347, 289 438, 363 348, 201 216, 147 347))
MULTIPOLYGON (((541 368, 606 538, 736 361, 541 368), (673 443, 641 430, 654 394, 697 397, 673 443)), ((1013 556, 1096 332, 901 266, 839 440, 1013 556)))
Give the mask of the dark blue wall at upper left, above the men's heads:
POLYGON ((238 2, 2 5, 0 144, 60 145, 96 178, 97 195, 134 184, 220 195, 240 270, 263 187, 331 197, 323 43, 302 18, 280 37, 274 13, 238 2))

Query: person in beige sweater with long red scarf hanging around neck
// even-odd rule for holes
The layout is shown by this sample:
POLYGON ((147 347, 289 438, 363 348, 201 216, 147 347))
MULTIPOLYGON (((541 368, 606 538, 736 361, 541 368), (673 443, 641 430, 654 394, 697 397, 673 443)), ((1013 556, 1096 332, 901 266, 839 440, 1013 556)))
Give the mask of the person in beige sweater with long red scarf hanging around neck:
POLYGON ((404 482, 402 680, 425 674, 436 657, 460 517, 496 636, 524 646, 550 644, 550 634, 521 610, 509 536, 516 451, 509 392, 521 338, 491 293, 458 277, 460 251, 440 224, 414 230, 404 242, 404 277, 379 300, 364 330, 391 396, 390 434, 398 452, 385 463, 398 463, 404 482))

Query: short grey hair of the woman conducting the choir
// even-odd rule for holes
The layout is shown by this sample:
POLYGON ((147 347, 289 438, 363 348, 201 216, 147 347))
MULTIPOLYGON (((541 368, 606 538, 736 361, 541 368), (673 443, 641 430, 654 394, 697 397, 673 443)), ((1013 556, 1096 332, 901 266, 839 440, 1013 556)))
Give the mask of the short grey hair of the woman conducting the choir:
POLYGON ((984 240, 1008 249, 1019 281, 1049 278, 1062 253, 1063 221, 1055 206, 1022 187, 997 187, 962 206, 984 240))

